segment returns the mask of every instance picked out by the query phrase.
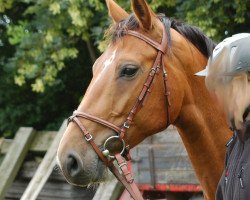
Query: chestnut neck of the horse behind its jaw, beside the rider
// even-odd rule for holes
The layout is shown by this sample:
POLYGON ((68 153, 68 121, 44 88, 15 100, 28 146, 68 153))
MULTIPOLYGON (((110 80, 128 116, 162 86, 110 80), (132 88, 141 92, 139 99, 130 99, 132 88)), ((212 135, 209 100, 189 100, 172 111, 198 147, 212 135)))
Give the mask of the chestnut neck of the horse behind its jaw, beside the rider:
MULTIPOLYGON (((206 90, 204 79, 192 75, 206 65, 207 60, 202 57, 196 50, 192 51, 192 58, 195 59, 189 59, 192 60, 190 64, 185 61, 184 70, 189 70, 190 75, 185 75, 186 80, 182 80, 185 94, 174 125, 181 135, 206 198, 214 199, 224 167, 225 144, 231 131, 217 103, 206 90)), ((188 57, 185 59, 188 60, 188 57)))

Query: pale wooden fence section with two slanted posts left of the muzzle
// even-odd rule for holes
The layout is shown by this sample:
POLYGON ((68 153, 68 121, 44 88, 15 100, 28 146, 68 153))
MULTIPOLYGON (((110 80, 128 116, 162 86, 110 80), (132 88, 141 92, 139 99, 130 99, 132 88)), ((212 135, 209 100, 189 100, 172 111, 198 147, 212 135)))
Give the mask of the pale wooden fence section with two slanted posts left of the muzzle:
POLYGON ((6 155, 0 165, 0 199, 4 199, 6 191, 15 179, 27 152, 29 150, 47 150, 21 199, 33 200, 37 198, 56 164, 56 151, 65 128, 66 121, 63 122, 57 134, 36 132, 33 128, 22 127, 12 142, 8 142, 8 140, 1 142, 1 153, 6 153, 6 155))

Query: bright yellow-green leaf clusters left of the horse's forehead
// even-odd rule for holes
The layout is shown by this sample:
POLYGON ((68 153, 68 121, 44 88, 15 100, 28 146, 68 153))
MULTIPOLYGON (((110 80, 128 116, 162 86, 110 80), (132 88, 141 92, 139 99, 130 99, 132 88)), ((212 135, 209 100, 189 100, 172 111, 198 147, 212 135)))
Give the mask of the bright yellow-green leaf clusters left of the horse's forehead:
POLYGON ((7 26, 9 43, 15 45, 14 59, 7 65, 15 68, 15 83, 31 82, 34 92, 44 92, 55 83, 65 61, 75 59, 75 45, 89 39, 89 26, 94 12, 104 5, 97 0, 15 1, 22 4, 24 19, 7 26))

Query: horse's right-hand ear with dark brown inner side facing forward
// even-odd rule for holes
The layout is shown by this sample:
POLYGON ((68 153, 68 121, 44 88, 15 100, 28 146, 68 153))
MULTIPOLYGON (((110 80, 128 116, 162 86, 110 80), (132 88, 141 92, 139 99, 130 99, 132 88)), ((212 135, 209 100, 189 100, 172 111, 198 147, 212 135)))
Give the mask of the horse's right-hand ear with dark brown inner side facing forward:
POLYGON ((153 16, 155 15, 146 0, 131 0, 132 9, 138 18, 140 25, 145 30, 150 30, 153 25, 153 16))

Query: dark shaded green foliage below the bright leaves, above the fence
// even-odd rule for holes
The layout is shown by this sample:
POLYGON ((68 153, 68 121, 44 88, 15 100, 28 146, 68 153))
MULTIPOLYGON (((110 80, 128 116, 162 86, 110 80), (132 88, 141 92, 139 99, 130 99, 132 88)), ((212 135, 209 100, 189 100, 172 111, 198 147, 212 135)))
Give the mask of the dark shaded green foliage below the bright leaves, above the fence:
POLYGON ((62 69, 57 81, 43 93, 32 92, 29 82, 22 87, 17 86, 11 70, 0 68, 0 136, 12 137, 20 126, 58 130, 62 121, 80 103, 82 91, 91 78, 91 61, 84 53, 86 45, 80 45, 76 48, 82 60, 71 61, 72 66, 62 69))

